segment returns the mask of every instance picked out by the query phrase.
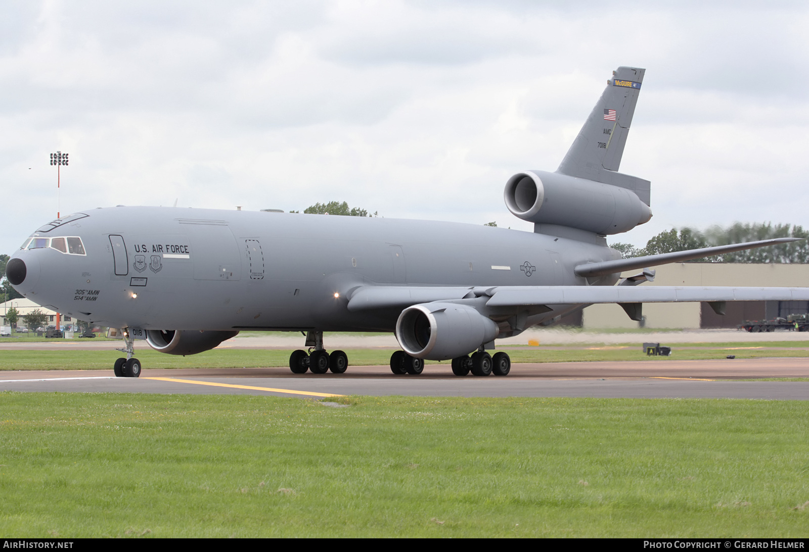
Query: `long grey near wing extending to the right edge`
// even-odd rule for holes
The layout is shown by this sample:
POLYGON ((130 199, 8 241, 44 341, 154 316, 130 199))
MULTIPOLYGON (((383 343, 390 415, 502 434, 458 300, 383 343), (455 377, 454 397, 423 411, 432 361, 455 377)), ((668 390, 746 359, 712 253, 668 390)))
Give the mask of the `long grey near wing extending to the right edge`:
POLYGON ((698 286, 548 285, 419 288, 362 286, 349 297, 349 310, 405 308, 432 301, 489 297, 487 306, 586 305, 594 303, 680 303, 697 301, 809 301, 809 288, 698 286))

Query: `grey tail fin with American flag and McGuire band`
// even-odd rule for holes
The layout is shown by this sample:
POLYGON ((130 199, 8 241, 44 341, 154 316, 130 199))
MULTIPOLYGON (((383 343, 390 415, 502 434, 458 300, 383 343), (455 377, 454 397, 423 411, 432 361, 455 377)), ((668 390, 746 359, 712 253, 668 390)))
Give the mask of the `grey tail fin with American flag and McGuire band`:
POLYGON ((649 181, 618 171, 645 69, 619 67, 557 169, 563 175, 628 188, 649 204, 649 181))

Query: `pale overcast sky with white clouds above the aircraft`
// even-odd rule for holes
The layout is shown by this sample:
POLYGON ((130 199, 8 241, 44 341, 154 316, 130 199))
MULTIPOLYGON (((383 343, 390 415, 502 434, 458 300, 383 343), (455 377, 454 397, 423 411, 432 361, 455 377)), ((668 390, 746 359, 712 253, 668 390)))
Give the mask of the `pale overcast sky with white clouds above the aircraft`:
POLYGON ((0 4, 0 252, 57 211, 305 209, 532 230, 618 65, 646 68, 621 172, 672 226, 809 226, 807 2, 0 4))

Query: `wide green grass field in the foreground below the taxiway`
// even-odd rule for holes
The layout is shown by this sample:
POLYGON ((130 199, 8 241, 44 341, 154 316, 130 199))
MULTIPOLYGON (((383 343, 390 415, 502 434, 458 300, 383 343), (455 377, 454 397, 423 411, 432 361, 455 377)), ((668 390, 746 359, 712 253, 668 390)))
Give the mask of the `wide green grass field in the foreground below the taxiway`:
POLYGON ((330 400, 4 392, 0 536, 806 535, 804 401, 330 400))

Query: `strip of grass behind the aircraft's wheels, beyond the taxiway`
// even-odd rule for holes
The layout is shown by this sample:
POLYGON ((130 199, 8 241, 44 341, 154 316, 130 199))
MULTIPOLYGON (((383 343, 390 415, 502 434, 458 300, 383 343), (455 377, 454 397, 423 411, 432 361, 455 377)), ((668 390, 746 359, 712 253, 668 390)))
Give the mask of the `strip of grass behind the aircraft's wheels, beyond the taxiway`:
MULTIPOLYGON (((791 343, 791 342, 786 342, 791 343)), ((227 349, 220 348, 201 352, 198 355, 175 356, 156 352, 140 343, 136 356, 144 368, 258 368, 288 366, 291 350, 277 349, 227 349)), ((809 350, 790 350, 795 345, 778 346, 750 343, 719 343, 714 346, 705 343, 682 343, 674 348, 671 357, 646 356, 640 347, 618 348, 542 348, 526 347, 508 350, 511 362, 586 362, 595 360, 645 360, 648 362, 667 362, 671 359, 721 359, 727 355, 736 358, 762 358, 772 356, 809 356, 809 350), (702 345, 705 345, 702 347, 702 345), (695 347, 688 349, 685 347, 695 347), (773 347, 773 348, 761 348, 773 347)), ((798 345, 801 347, 803 345, 798 345)), ((368 366, 388 364, 392 349, 346 349, 349 364, 368 366)), ((115 359, 121 353, 110 351, 2 351, 0 352, 0 371, 2 370, 78 370, 78 369, 111 369, 115 359)), ((428 360, 427 364, 435 364, 428 360)), ((446 361, 445 361, 446 364, 446 361)))

